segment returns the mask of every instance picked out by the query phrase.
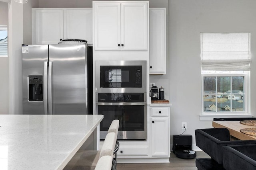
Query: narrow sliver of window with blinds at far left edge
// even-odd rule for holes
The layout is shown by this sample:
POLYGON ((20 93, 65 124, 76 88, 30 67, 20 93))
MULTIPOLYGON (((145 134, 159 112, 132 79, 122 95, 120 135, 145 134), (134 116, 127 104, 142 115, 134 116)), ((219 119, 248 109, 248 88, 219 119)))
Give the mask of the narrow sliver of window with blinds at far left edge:
POLYGON ((0 25, 0 57, 8 57, 7 26, 0 25))

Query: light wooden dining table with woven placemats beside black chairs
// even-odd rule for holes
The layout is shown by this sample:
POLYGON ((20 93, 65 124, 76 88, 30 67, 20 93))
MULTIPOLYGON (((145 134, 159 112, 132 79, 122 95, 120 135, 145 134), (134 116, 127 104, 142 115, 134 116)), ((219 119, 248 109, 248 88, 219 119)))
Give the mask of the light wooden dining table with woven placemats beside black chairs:
POLYGON ((212 127, 225 127, 229 130, 231 136, 240 140, 256 140, 255 136, 246 135, 240 132, 240 129, 256 128, 256 126, 243 125, 240 121, 212 121, 212 127))

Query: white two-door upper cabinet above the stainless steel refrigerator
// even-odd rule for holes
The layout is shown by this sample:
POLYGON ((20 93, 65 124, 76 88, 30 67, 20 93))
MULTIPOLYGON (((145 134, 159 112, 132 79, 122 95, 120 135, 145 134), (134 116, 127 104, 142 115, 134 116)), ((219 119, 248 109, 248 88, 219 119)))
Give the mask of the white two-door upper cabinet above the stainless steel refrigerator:
POLYGON ((85 39, 92 44, 92 8, 32 8, 33 44, 85 39))

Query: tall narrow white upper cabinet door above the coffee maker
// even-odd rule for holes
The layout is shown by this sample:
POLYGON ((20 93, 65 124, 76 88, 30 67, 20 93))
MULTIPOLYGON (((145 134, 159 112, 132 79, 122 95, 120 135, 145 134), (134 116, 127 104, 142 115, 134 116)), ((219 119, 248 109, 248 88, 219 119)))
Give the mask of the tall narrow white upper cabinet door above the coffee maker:
POLYGON ((149 9, 150 74, 166 74, 166 8, 149 9))

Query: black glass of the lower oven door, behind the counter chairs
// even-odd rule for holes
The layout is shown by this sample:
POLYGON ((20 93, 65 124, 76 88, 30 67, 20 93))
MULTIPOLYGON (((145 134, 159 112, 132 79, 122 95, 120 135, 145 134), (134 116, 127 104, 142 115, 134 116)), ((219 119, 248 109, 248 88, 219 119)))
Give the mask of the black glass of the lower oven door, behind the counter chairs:
POLYGON ((143 106, 99 106, 99 114, 104 115, 100 131, 108 131, 114 119, 119 120, 119 131, 144 131, 143 106))

